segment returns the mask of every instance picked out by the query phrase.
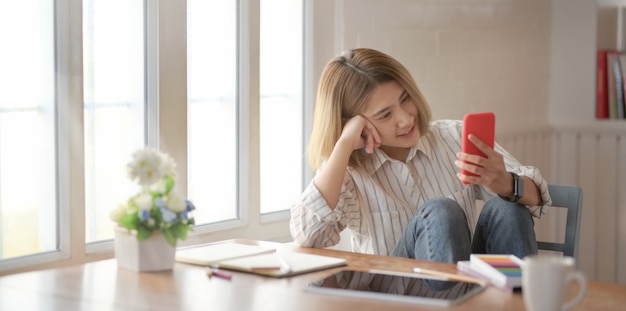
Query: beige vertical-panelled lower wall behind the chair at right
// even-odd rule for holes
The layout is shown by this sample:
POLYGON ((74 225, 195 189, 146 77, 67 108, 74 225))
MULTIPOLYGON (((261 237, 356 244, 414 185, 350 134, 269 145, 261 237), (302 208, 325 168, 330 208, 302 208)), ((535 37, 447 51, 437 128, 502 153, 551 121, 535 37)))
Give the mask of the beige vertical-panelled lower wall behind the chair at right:
MULTIPOLYGON (((560 129, 497 137, 549 183, 583 189, 578 267, 590 280, 626 284, 626 132, 560 129)), ((536 221, 539 238, 562 241, 565 213, 536 221)))

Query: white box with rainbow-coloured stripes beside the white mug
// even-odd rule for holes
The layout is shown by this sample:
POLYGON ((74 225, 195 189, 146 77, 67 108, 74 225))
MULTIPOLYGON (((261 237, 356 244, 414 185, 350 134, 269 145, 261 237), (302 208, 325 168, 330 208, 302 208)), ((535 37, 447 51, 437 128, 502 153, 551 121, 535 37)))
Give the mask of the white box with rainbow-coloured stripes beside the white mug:
POLYGON ((502 289, 522 287, 523 261, 514 255, 471 254, 470 260, 459 261, 457 270, 488 281, 502 289))

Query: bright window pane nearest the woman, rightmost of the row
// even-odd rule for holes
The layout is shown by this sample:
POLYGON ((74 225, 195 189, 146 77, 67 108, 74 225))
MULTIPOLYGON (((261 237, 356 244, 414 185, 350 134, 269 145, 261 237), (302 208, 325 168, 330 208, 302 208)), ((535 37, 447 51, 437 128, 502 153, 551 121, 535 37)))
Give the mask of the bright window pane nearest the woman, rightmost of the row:
POLYGON ((302 6, 297 0, 261 1, 261 213, 288 209, 302 191, 302 6))

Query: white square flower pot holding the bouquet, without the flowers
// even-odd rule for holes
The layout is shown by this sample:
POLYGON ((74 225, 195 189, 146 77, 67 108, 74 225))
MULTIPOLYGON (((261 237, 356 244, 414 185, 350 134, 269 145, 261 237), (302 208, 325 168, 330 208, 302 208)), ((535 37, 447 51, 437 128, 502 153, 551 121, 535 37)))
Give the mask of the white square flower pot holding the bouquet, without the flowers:
POLYGON ((139 241, 126 228, 115 228, 115 258, 120 268, 137 272, 171 270, 175 255, 176 247, 169 245, 161 232, 139 241))

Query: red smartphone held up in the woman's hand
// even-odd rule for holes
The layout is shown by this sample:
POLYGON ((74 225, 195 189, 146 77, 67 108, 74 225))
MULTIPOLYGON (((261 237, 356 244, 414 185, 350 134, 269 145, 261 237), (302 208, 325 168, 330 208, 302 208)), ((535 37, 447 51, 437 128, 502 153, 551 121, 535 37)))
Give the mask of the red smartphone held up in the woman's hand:
MULTIPOLYGON (((482 140, 485 144, 493 148, 495 127, 496 116, 493 112, 476 112, 466 114, 463 118, 463 138, 461 147, 463 148, 463 152, 486 157, 482 151, 469 141, 468 135, 476 135, 476 137, 482 140)), ((461 170, 461 173, 470 176, 477 176, 476 174, 465 170, 461 170)), ((463 183, 468 184, 467 182, 463 183)))

